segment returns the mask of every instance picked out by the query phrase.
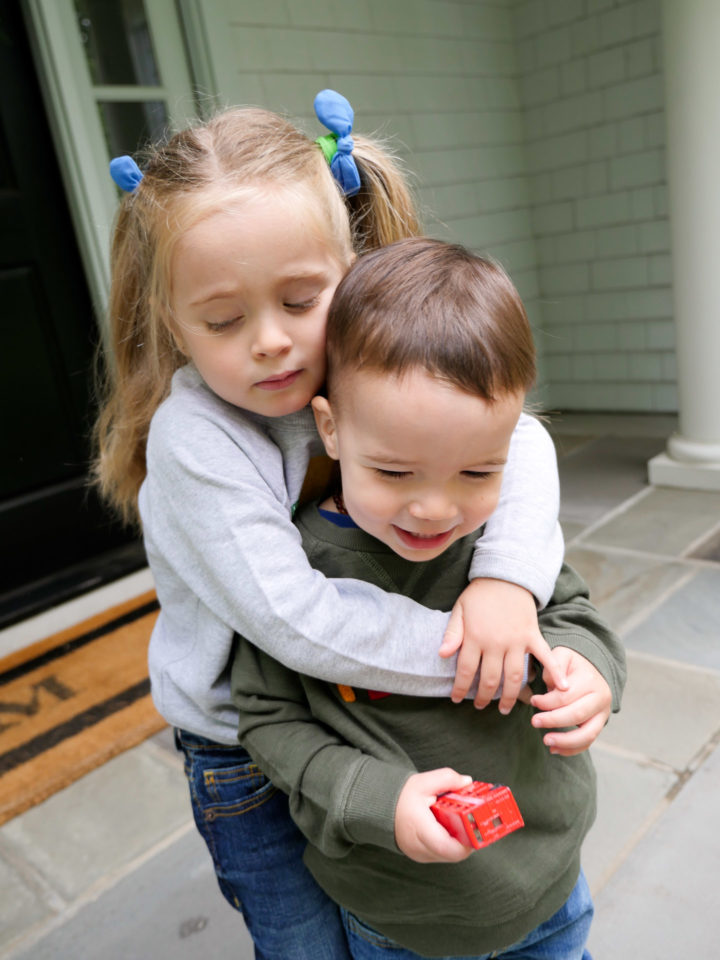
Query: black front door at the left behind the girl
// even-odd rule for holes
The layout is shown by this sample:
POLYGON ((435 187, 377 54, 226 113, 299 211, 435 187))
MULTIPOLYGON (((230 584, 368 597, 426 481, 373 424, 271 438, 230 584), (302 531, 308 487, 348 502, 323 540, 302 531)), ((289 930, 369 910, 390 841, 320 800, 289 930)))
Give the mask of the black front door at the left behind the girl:
POLYGON ((0 4, 0 626, 144 562, 87 485, 97 325, 18 0, 0 4))

